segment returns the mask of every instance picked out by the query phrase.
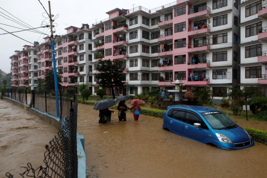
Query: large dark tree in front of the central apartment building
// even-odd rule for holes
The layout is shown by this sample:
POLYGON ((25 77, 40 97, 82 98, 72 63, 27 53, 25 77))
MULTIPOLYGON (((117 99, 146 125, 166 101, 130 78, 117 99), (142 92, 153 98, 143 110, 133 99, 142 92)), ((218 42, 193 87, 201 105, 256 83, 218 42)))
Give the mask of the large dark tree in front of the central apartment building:
POLYGON ((96 70, 96 83, 102 88, 112 88, 112 96, 115 99, 115 93, 113 87, 123 87, 125 82, 125 76, 122 75, 125 68, 120 66, 120 62, 110 60, 99 60, 96 70))

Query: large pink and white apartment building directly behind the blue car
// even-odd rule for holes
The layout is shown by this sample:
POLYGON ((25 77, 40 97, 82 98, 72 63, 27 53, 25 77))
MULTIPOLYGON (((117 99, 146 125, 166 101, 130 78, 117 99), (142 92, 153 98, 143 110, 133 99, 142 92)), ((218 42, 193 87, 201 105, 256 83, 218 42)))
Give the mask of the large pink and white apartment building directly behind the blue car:
POLYGON ((238 86, 238 1, 177 0, 151 10, 116 8, 107 14, 109 18, 90 28, 93 92, 99 88, 99 59, 117 60, 125 67, 125 88, 116 89, 124 95, 173 89, 176 80, 188 90, 209 86, 214 98, 224 96, 226 87, 238 86))

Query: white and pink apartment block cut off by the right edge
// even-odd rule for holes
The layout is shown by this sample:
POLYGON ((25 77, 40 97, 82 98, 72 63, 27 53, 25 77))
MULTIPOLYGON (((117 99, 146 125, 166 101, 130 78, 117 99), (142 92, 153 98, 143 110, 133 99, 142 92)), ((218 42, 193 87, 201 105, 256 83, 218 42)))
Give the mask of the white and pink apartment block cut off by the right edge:
POLYGON ((262 3, 240 4, 240 86, 254 85, 267 96, 267 5, 262 3))

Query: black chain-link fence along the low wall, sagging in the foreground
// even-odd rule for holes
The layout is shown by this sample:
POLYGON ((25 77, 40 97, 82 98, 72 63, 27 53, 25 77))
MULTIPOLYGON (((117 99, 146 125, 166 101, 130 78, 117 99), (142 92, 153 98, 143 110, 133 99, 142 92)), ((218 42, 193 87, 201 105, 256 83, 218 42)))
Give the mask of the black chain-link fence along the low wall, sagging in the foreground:
MULTIPOLYGON (((27 92, 21 91, 6 91, 6 97, 18 100, 22 103, 27 102, 27 92)), ((29 94, 28 94, 29 95, 29 94)), ((24 178, 45 178, 45 177, 78 177, 78 158, 77 158, 77 109, 78 100, 76 95, 70 96, 59 93, 59 108, 60 108, 60 125, 61 129, 58 135, 45 146, 45 166, 33 168, 31 163, 22 165, 25 168, 20 175, 24 178)), ((53 93, 47 92, 31 92, 31 103, 29 107, 34 107, 43 112, 57 115, 55 96, 53 93)), ((6 173, 6 177, 13 178, 12 173, 6 173)))

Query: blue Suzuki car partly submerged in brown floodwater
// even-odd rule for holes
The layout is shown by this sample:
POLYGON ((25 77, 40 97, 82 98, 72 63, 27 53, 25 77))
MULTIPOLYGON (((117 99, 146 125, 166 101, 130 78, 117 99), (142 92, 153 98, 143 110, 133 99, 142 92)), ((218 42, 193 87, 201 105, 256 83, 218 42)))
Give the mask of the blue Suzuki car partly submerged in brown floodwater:
POLYGON ((254 145, 247 131, 233 120, 216 109, 203 106, 169 106, 162 128, 222 150, 238 150, 254 145))

